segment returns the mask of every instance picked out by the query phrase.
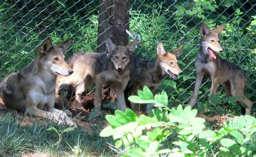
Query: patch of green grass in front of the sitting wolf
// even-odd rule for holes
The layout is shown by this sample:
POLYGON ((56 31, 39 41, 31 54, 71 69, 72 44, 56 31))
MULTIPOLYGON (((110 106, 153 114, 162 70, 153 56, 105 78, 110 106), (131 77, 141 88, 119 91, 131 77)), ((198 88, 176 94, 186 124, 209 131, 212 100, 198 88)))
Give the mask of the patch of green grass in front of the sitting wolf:
POLYGON ((54 131, 47 131, 55 127, 58 131, 68 126, 52 122, 21 125, 22 117, 15 113, 0 115, 0 156, 44 154, 49 156, 111 156, 114 152, 107 143, 113 144, 111 138, 100 138, 98 128, 91 133, 76 129, 64 132, 59 145, 59 136, 54 131))

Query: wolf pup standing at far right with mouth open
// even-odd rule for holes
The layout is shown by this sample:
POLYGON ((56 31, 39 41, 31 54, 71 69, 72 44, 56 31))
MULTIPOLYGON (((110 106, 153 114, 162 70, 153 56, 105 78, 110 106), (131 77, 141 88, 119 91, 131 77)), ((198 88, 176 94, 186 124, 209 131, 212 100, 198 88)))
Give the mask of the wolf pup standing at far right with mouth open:
POLYGON ((210 95, 216 94, 219 83, 224 83, 226 94, 228 96, 241 96, 237 100, 247 105, 246 115, 250 115, 252 102, 245 97, 245 72, 216 54, 223 51, 219 45, 218 35, 224 27, 225 25, 222 25, 215 30, 210 30, 207 25, 201 25, 200 49, 196 60, 196 85, 189 104, 194 106, 196 103, 201 82, 204 74, 206 74, 212 80, 210 95))

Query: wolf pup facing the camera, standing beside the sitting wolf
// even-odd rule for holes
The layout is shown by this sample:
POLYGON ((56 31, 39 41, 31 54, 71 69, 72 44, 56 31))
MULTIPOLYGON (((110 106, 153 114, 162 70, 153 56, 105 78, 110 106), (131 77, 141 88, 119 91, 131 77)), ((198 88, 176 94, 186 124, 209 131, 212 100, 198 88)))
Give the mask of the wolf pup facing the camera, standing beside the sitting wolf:
POLYGON ((69 61, 74 73, 68 77, 58 76, 56 83, 56 97, 60 85, 75 85, 76 104, 82 107, 81 96, 83 92, 96 84, 95 108, 100 109, 102 103, 102 90, 105 83, 111 84, 117 91, 118 108, 125 110, 124 89, 130 80, 130 55, 137 46, 137 39, 126 46, 116 46, 111 39, 106 39, 107 51, 110 55, 95 52, 78 53, 69 61))

